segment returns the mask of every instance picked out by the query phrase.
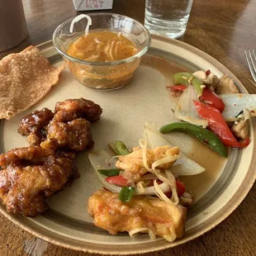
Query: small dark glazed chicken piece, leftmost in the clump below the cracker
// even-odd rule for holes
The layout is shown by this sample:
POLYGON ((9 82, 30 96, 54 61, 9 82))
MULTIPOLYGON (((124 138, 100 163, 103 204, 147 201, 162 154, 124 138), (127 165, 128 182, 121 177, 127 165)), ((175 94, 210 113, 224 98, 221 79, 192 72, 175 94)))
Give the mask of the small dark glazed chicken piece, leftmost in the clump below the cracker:
POLYGON ((34 111, 21 119, 18 132, 21 135, 28 135, 30 145, 40 145, 46 139, 46 127, 54 116, 55 114, 46 107, 41 111, 34 111))

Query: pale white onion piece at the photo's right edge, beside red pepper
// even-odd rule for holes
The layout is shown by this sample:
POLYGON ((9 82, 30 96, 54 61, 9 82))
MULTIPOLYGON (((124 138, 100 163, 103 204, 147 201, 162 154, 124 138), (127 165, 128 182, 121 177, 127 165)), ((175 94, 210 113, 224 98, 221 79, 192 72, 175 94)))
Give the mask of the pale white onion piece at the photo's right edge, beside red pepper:
POLYGON ((240 111, 247 108, 250 116, 256 116, 256 94, 230 93, 220 94, 219 97, 225 104, 225 110, 222 112, 225 121, 236 121, 241 116, 237 116, 240 111))

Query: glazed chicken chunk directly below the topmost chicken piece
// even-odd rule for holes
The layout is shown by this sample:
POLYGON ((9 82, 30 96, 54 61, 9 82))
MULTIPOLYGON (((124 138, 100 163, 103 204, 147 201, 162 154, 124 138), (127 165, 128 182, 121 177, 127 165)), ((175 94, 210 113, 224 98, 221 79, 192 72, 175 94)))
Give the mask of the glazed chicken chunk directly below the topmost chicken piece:
POLYGON ((94 142, 90 125, 91 123, 83 118, 67 123, 56 121, 54 118, 48 126, 47 140, 40 146, 44 149, 67 149, 76 152, 91 149, 94 142))

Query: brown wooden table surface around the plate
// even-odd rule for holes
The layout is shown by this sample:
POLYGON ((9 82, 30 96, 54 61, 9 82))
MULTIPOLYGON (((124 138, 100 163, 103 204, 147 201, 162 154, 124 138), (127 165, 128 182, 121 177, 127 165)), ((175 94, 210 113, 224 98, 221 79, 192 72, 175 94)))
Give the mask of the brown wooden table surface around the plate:
MULTIPOLYGON (((0 59, 27 45, 50 40, 55 27, 75 17, 72 0, 23 0, 29 31, 17 48, 0 53, 0 59)), ((145 1, 114 0, 111 12, 144 21, 145 1)), ((255 0, 194 0, 183 41, 218 59, 240 79, 249 92, 256 93, 244 58, 245 49, 256 48, 255 0)), ((227 220, 198 239, 177 248, 148 255, 256 255, 256 186, 227 220)), ((37 239, 0 216, 1 256, 82 256, 37 239)))

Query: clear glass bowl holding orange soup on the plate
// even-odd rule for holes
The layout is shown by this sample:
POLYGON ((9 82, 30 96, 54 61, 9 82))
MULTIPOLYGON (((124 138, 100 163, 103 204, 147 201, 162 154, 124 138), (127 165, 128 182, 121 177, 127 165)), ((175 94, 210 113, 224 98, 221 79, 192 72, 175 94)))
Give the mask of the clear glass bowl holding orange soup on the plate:
POLYGON ((90 62, 74 58, 67 54, 69 45, 79 36, 84 34, 88 24, 86 18, 76 22, 73 33, 69 32, 72 19, 59 25, 53 35, 56 50, 64 57, 74 78, 89 88, 100 90, 113 90, 121 88, 130 82, 135 69, 140 64, 140 59, 150 45, 149 31, 139 21, 130 17, 113 13, 90 13, 92 26, 90 31, 111 31, 125 36, 137 48, 137 54, 127 58, 111 62, 90 62))

